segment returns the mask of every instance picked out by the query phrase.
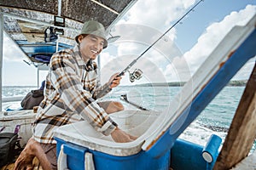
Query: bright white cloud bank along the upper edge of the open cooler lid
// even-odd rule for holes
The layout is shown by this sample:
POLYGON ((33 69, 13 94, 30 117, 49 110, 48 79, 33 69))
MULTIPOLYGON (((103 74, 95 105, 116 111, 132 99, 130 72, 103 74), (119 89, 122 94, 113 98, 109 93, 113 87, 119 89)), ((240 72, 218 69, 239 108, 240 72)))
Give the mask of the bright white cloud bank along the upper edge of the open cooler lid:
MULTIPOLYGON (((189 67, 194 73, 201 63, 207 58, 212 50, 234 26, 243 26, 256 14, 256 6, 247 5, 245 9, 239 12, 231 12, 224 20, 212 23, 207 30, 198 38, 198 42, 193 48, 184 54, 189 63, 189 67)), ((252 70, 252 69, 251 69, 252 70)), ((241 73, 240 75, 246 75, 241 73)), ((241 79, 244 77, 241 77, 241 79)))

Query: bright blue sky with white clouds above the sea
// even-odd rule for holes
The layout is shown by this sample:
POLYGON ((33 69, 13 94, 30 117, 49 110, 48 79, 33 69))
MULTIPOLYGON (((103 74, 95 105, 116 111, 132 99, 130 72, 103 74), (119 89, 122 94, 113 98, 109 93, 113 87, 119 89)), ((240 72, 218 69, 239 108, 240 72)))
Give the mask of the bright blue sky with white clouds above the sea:
MULTIPOLYGON (((114 72, 124 70, 197 2, 138 0, 111 30, 113 36, 120 38, 101 54, 102 82, 108 81, 114 72)), ((227 32, 233 26, 244 25, 253 14, 256 14, 255 0, 201 2, 131 67, 131 73, 135 69, 143 71, 143 78, 136 83, 187 81, 227 32)), ((23 59, 26 57, 4 36, 3 86, 38 84, 37 70, 23 59)), ((233 80, 247 79, 254 64, 255 58, 249 60, 233 80)), ((40 73, 39 82, 46 71, 40 73)), ((128 75, 127 72, 123 77, 124 85, 131 84, 128 75)))

